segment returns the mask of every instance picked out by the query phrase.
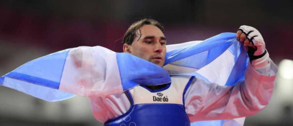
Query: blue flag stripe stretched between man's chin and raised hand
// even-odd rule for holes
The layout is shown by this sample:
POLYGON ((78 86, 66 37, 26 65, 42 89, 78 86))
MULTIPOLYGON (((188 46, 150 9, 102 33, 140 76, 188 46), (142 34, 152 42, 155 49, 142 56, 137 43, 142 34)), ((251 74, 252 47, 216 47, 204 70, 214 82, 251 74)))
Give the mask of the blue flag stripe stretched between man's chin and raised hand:
POLYGON ((200 69, 224 53, 234 42, 235 33, 221 33, 186 48, 167 52, 165 65, 179 62, 181 66, 200 69), (182 60, 183 61, 180 61, 182 60), (200 60, 197 60, 200 59, 200 60))

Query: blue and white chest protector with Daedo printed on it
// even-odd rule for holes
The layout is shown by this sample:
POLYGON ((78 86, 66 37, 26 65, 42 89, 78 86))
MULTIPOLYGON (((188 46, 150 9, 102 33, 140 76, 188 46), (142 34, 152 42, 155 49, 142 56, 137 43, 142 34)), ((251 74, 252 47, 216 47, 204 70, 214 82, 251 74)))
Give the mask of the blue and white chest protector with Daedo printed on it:
POLYGON ((185 112, 184 94, 194 76, 172 76, 171 84, 158 90, 137 86, 127 91, 130 109, 105 126, 190 126, 185 112))

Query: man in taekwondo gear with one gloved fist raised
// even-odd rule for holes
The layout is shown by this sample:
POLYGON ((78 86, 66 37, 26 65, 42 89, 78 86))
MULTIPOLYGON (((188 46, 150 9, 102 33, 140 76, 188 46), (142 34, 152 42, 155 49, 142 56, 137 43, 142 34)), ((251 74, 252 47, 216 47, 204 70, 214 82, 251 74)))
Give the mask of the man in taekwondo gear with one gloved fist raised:
MULTIPOLYGON (((96 119, 106 121, 106 126, 119 126, 190 125, 194 121, 240 118, 259 112, 270 100, 276 71, 271 70, 275 65, 269 59, 260 33, 251 32, 249 28, 252 27, 241 26, 236 34, 236 38, 249 47, 253 66, 249 65, 246 70, 250 75, 245 76, 245 84, 219 86, 194 76, 171 76, 171 84, 136 86, 99 100, 91 98, 93 114, 96 119), (248 36, 245 30, 249 30, 246 31, 248 36), (258 43, 253 45, 253 39, 258 43)), ((124 52, 163 67, 166 37, 157 21, 142 19, 133 23, 123 42, 124 52)))

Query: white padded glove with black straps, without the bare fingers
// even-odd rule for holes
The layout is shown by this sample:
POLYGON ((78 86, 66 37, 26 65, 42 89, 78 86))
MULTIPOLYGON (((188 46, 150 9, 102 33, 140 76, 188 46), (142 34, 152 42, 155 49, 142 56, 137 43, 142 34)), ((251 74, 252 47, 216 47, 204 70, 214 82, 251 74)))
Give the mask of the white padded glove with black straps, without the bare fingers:
POLYGON ((258 30, 247 25, 240 26, 239 30, 242 30, 242 32, 246 34, 246 38, 248 38, 248 40, 257 47, 257 50, 253 53, 253 55, 258 56, 265 52, 265 41, 258 30))

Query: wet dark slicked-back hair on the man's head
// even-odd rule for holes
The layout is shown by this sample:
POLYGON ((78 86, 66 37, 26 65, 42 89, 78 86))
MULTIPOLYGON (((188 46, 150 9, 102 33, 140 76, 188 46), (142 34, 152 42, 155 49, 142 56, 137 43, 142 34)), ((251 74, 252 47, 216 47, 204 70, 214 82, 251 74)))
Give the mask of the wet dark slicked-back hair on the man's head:
MULTIPOLYGON (((143 19, 141 19, 137 22, 134 22, 130 25, 130 27, 127 29, 126 33, 124 34, 123 44, 126 43, 128 45, 131 45, 134 38, 137 37, 136 36, 137 30, 140 31, 140 28, 144 25, 154 25, 154 26, 158 27, 164 33, 164 27, 161 23, 159 23, 158 21, 156 21, 152 18, 143 18, 143 19)), ((141 33, 141 32, 139 32, 139 33, 141 33)), ((142 36, 142 34, 140 34, 140 37, 141 36, 142 36)))

